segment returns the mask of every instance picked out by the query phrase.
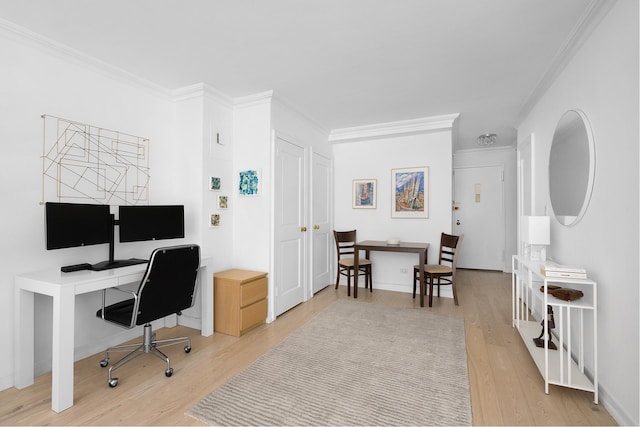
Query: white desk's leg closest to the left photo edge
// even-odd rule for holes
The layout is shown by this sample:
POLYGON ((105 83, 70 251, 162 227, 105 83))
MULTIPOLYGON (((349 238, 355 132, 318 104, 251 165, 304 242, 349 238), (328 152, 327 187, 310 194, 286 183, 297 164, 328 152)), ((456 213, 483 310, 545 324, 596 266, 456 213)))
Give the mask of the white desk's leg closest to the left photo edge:
MULTIPOLYGON (((16 279, 19 280, 19 279, 16 279)), ((23 389, 33 384, 34 366, 34 296, 16 286, 15 289, 15 325, 13 337, 14 378, 13 385, 23 389)))

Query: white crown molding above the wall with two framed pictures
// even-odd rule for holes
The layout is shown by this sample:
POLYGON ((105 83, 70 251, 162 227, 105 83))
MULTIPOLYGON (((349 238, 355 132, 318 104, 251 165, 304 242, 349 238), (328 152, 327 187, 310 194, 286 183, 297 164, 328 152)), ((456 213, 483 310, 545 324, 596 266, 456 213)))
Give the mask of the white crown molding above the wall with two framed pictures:
POLYGON ((329 142, 351 142, 366 138, 397 136, 409 133, 423 133, 434 130, 451 129, 453 122, 460 114, 445 114, 441 116, 423 117, 412 120, 379 123, 374 125, 356 126, 351 128, 333 129, 329 133, 329 142))

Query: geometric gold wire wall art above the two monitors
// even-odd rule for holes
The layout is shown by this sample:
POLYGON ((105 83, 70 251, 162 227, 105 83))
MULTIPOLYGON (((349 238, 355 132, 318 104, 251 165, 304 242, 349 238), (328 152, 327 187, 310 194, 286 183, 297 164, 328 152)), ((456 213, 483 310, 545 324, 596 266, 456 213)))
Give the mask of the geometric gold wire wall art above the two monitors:
POLYGON ((148 204, 149 140, 42 115, 42 202, 148 204))

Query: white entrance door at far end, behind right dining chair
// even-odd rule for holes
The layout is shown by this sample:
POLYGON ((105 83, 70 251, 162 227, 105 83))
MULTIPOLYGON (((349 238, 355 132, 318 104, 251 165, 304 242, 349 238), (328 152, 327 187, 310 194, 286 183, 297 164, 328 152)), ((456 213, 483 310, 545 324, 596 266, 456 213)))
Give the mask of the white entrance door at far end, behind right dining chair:
POLYGON ((458 267, 504 269, 503 167, 454 171, 454 234, 464 234, 458 267))

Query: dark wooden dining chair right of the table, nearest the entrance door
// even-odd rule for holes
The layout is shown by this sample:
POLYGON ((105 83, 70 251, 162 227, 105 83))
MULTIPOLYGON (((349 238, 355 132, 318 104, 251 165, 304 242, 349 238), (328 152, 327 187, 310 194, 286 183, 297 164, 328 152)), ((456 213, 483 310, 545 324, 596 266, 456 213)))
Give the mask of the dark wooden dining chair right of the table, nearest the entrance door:
MULTIPOLYGON (((456 265, 458 263, 458 253, 464 234, 453 236, 442 233, 440 236, 440 252, 438 254, 438 264, 427 264, 424 266, 425 291, 429 285, 429 307, 433 302, 433 282, 437 280, 438 298, 440 298, 440 285, 451 285, 453 290, 453 302, 458 305, 458 292, 456 292, 456 265)), ((416 297, 416 287, 420 280, 420 266, 413 266, 413 297, 416 297)))

